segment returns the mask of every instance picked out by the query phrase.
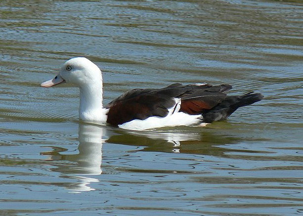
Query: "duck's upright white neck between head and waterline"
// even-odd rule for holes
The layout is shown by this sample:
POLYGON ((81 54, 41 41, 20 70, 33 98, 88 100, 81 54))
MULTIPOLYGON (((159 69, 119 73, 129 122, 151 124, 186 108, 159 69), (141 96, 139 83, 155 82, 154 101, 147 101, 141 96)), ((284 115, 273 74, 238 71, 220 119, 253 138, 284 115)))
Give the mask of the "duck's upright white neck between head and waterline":
POLYGON ((79 118, 89 122, 106 122, 102 99, 102 80, 91 85, 80 86, 79 118))

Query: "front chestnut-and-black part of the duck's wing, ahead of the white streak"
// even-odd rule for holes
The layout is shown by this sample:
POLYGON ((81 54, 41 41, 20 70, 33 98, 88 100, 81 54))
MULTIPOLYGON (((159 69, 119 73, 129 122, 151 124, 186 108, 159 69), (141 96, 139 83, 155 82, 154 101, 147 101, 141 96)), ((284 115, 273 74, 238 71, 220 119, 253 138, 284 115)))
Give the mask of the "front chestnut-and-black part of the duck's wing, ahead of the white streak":
POLYGON ((110 102, 107 123, 117 126, 134 119, 165 117, 175 105, 174 98, 186 92, 186 87, 173 84, 165 88, 133 89, 110 102))

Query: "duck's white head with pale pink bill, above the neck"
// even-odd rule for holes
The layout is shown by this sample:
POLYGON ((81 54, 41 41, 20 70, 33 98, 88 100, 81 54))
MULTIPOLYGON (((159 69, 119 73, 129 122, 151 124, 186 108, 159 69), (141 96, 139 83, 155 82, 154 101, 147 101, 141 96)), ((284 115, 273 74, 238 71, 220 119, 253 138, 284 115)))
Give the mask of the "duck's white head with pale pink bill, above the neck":
MULTIPOLYGON (((87 85, 102 85, 102 74, 97 65, 85 57, 71 58, 66 61, 57 76, 45 81, 42 87, 55 86, 60 83, 71 83, 79 87, 87 85)), ((102 86, 101 86, 102 87, 102 86)))

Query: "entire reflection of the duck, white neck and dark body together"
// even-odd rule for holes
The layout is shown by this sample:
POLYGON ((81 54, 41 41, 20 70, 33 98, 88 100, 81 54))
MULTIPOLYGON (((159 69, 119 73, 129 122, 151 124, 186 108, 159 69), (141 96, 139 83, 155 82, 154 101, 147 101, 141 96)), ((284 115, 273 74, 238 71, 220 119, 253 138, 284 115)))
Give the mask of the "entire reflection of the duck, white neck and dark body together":
POLYGON ((239 138, 218 134, 215 130, 138 132, 79 123, 78 150, 51 147, 52 151, 41 154, 48 155, 52 161, 65 161, 55 163, 56 168, 51 170, 62 173, 60 177, 78 179, 77 183, 64 185, 76 192, 94 190, 91 182, 98 182, 98 177, 94 178, 93 175, 102 173, 102 144, 105 142, 140 146, 137 151, 224 156, 228 150, 217 146, 238 141, 239 138))

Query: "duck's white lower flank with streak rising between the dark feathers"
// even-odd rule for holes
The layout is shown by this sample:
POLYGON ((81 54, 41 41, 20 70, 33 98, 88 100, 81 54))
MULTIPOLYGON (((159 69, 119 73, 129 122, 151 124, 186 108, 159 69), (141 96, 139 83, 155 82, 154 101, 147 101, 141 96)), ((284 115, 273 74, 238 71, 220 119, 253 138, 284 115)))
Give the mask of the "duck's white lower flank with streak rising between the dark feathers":
POLYGON ((169 109, 169 114, 166 117, 153 116, 145 120, 135 119, 119 125, 119 128, 127 130, 148 130, 163 127, 198 125, 201 122, 201 120, 198 119, 201 115, 189 115, 178 112, 181 100, 175 98, 175 102, 175 105, 169 109))

